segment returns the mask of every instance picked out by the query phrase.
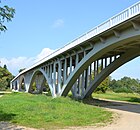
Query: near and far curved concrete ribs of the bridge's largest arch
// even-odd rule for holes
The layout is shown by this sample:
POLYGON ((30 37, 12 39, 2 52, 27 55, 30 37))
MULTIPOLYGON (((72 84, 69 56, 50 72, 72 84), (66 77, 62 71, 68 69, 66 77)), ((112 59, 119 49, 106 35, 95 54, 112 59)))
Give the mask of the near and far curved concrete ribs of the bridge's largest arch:
POLYGON ((113 52, 118 48, 122 48, 122 50, 124 49, 124 51, 121 51, 121 53, 117 53, 117 55, 120 55, 120 58, 118 58, 116 62, 115 61, 112 62, 113 63, 113 64, 111 63, 112 65, 110 64, 105 69, 103 69, 101 73, 98 74, 96 78, 90 83, 88 89, 84 92, 84 94, 80 98, 85 98, 89 96, 109 74, 111 74, 121 65, 139 56, 140 30, 136 31, 134 28, 131 28, 131 30, 129 30, 131 33, 130 32, 128 33, 127 31, 128 30, 122 32, 120 37, 116 37, 114 35, 114 38, 110 38, 107 39, 105 42, 95 44, 94 48, 77 64, 74 71, 68 77, 68 79, 66 80, 65 84, 62 87, 61 95, 67 96, 73 84, 76 82, 78 77, 83 73, 83 71, 86 70, 87 67, 90 66, 94 61, 101 59, 104 55, 111 53, 111 51, 113 52), (135 44, 135 42, 137 44, 135 44))

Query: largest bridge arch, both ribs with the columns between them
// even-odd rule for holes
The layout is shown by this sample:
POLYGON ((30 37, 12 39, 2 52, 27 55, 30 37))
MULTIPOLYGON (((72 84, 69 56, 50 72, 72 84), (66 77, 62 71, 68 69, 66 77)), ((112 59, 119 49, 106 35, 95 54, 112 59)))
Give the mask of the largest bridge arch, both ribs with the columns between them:
POLYGON ((130 33, 127 37, 116 38, 116 41, 106 41, 105 43, 94 46, 94 48, 77 64, 74 71, 63 85, 60 95, 67 96, 68 92, 72 90, 75 98, 86 98, 90 96, 99 84, 113 71, 139 56, 140 32, 138 30, 133 33, 130 33), (89 72, 91 71, 91 66, 95 66, 92 70, 94 71, 93 73, 95 73, 93 79, 89 72), (99 66, 101 67, 100 72, 98 70, 99 66), (83 75, 85 75, 87 71, 90 74, 84 77, 83 75))

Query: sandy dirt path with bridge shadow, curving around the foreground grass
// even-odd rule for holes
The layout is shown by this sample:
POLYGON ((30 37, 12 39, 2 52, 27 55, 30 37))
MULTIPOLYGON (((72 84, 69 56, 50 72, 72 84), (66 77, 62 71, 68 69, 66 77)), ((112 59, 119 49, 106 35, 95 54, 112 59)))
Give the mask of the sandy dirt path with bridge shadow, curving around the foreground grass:
MULTIPOLYGON (((0 95, 1 96, 1 95, 0 95)), ((112 124, 102 127, 71 127, 63 130, 140 130, 140 104, 116 102, 109 100, 97 100, 91 105, 100 105, 105 109, 117 113, 117 118, 112 124)), ((0 122, 0 130, 36 130, 22 126, 15 126, 8 122, 0 122)))

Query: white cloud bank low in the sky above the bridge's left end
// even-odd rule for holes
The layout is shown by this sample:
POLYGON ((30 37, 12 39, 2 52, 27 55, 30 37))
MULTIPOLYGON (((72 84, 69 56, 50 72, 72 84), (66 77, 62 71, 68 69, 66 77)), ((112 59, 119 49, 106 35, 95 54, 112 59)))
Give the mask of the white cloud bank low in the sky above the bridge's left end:
POLYGON ((4 64, 7 65, 8 70, 13 74, 17 75, 18 71, 23 68, 27 68, 37 61, 41 60, 42 58, 46 57, 50 53, 52 53, 54 50, 51 50, 49 48, 44 48, 40 54, 38 54, 36 57, 17 57, 12 59, 6 59, 6 58, 0 58, 0 66, 4 66, 4 64))

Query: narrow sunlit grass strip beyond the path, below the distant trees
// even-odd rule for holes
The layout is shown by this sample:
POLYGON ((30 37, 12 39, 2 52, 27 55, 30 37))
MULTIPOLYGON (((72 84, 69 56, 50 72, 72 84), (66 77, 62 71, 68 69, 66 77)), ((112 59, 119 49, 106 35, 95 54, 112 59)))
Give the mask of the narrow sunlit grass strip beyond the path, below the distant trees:
POLYGON ((133 93, 128 93, 128 94, 127 93, 114 93, 114 92, 107 92, 107 93, 101 93, 101 94, 93 93, 92 97, 140 103, 140 95, 133 94, 133 93))

